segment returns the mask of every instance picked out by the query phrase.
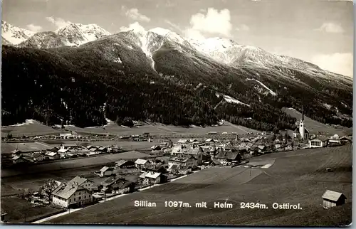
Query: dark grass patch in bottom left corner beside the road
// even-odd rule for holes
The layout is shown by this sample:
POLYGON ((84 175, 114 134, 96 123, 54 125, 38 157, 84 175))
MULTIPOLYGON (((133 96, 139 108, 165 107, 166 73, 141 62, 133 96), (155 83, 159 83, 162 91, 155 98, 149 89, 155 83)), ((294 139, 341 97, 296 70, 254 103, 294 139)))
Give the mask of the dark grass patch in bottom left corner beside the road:
POLYGON ((46 217, 55 213, 61 213, 58 208, 50 206, 32 207, 29 201, 18 197, 1 197, 1 211, 8 213, 8 221, 11 223, 31 222, 40 217, 46 217))

